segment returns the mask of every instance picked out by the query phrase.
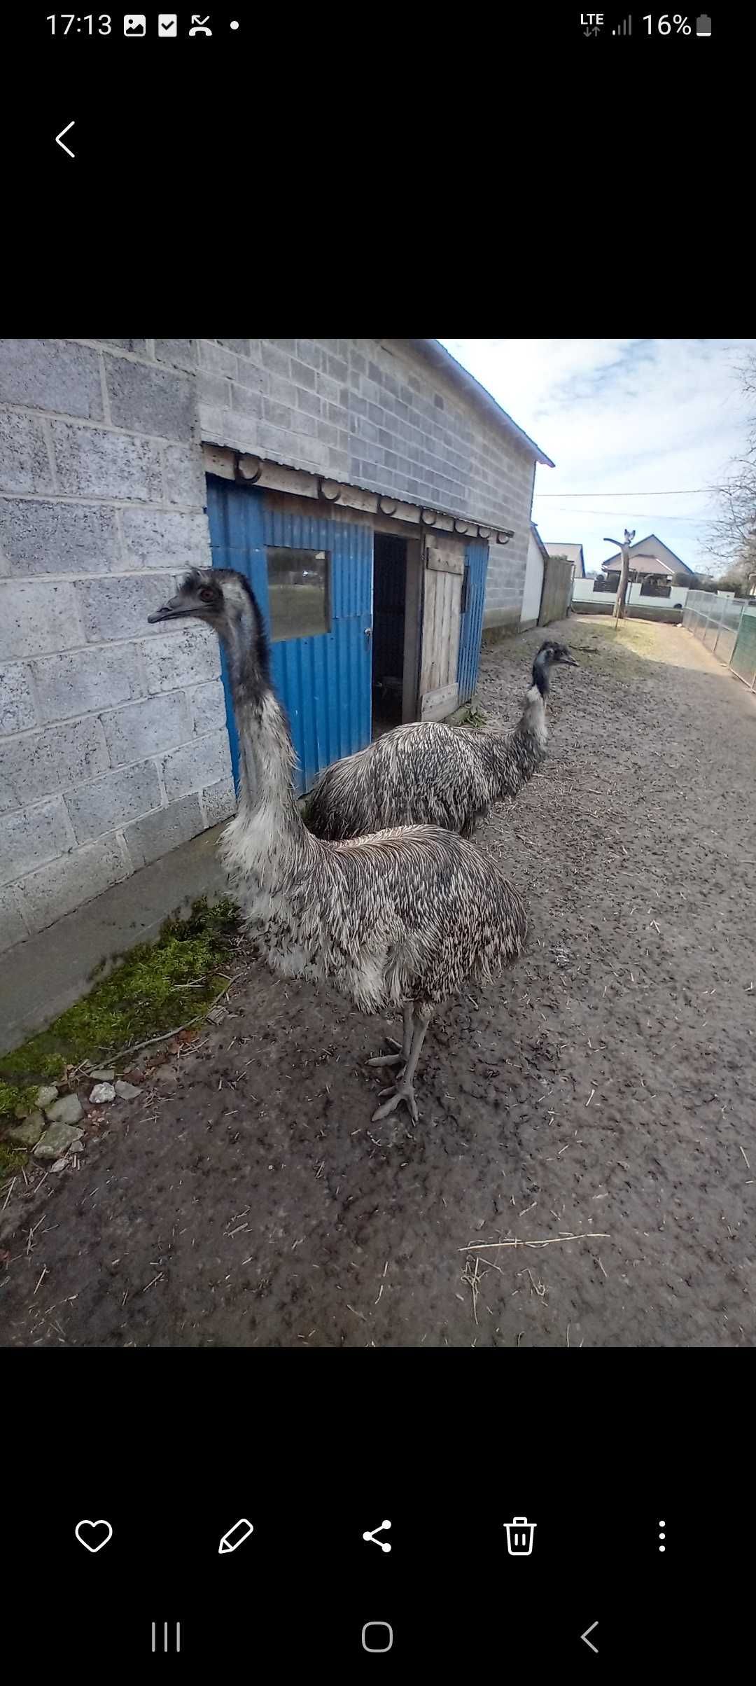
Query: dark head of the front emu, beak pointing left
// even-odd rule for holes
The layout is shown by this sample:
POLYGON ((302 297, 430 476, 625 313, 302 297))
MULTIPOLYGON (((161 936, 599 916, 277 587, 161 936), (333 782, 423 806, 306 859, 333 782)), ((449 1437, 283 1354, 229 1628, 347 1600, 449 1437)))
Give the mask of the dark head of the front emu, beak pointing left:
POLYGON ((190 568, 175 597, 146 617, 158 620, 204 620, 222 639, 234 668, 254 669, 268 681, 269 652, 258 599, 236 568, 190 568))

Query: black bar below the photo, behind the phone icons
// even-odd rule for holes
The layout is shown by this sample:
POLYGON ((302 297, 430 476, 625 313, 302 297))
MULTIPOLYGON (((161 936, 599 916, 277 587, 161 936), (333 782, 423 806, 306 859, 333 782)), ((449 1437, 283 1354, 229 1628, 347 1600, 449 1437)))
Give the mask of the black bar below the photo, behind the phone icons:
POLYGON ((349 1679, 379 1666, 365 1622, 391 1624, 381 1667, 401 1678, 732 1661, 754 1571, 753 1431, 732 1394, 700 1415, 702 1379, 714 1399, 741 1359, 746 1393, 749 1354, 527 1357, 24 1356, 34 1404, 8 1425, 2 1583, 35 1671, 94 1679, 106 1657, 131 1676, 254 1664, 349 1679), (515 1516, 535 1522, 529 1558, 507 1553, 515 1516), (84 1517, 113 1526, 94 1556, 74 1536, 84 1517), (239 1517, 253 1538, 221 1556, 239 1517), (391 1554, 362 1539, 384 1517, 391 1554), (170 1646, 182 1624, 178 1657, 163 1622, 170 1646), (598 1656, 581 1639, 593 1622, 598 1656))

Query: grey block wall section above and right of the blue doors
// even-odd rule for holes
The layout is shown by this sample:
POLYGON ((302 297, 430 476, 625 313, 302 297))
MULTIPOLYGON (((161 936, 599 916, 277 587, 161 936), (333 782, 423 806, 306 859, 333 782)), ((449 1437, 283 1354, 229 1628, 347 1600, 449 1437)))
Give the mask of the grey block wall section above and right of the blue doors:
POLYGON ((200 428, 273 457, 492 528, 487 626, 519 626, 535 460, 404 341, 200 342, 200 428))

